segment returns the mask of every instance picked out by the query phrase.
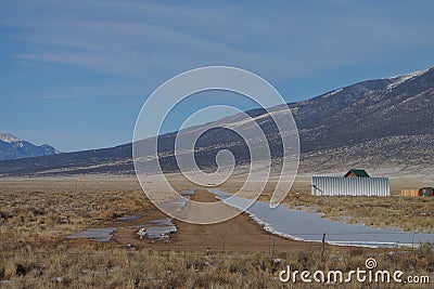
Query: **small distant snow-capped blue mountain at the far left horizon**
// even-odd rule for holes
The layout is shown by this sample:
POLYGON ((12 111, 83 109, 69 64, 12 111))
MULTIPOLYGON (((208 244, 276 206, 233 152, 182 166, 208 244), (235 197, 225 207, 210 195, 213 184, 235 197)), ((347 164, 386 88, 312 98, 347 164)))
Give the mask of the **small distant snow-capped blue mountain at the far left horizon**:
POLYGON ((35 145, 10 133, 0 133, 0 160, 21 159, 60 154, 54 147, 35 145))

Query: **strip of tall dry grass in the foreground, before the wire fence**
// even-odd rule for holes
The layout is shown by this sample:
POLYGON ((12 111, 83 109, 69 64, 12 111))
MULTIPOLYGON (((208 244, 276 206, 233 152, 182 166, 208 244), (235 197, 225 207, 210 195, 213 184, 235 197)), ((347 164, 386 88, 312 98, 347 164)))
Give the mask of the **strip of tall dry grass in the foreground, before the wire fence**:
MULTIPOLYGON (((349 272, 365 268, 369 257, 376 259, 379 270, 401 270, 412 275, 431 275, 434 271, 433 248, 427 245, 413 251, 393 250, 374 255, 369 249, 329 248, 322 261, 320 252, 309 250, 279 251, 270 260, 268 254, 256 253, 133 251, 108 244, 76 242, 3 252, 0 280, 9 280, 10 288, 280 288, 279 272, 288 265, 298 271, 349 272)), ((323 286, 314 284, 308 288, 323 286)), ((291 288, 304 286, 298 283, 291 288)), ((345 288, 371 287, 353 283, 345 288)))

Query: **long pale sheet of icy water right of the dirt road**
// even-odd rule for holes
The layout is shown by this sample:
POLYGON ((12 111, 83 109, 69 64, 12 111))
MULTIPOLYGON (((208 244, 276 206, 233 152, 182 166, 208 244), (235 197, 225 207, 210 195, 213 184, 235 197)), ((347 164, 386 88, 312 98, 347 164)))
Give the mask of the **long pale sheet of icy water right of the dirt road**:
MULTIPOLYGON (((234 208, 242 208, 252 200, 230 197, 231 195, 209 189, 210 193, 234 208)), ((434 242, 434 234, 408 233, 400 228, 376 228, 363 224, 347 224, 332 221, 320 212, 291 209, 284 205, 271 209, 268 202, 256 201, 246 211, 251 218, 272 234, 305 241, 326 241, 342 246, 396 247, 418 246, 420 242, 434 242)))

